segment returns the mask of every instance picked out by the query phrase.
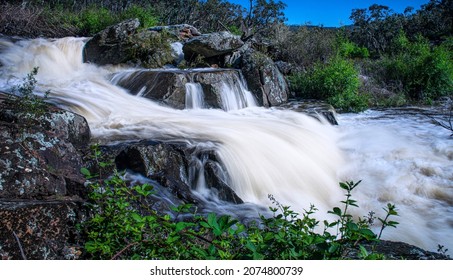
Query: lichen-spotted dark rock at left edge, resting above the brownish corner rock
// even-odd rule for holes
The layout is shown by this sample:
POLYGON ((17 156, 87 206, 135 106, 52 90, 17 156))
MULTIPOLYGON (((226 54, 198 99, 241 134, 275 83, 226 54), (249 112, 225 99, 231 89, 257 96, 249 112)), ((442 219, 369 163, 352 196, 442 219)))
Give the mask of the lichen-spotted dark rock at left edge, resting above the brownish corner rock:
POLYGON ((84 177, 81 150, 88 147, 86 120, 48 108, 26 117, 5 101, 0 112, 0 198, 35 199, 81 195, 84 177))

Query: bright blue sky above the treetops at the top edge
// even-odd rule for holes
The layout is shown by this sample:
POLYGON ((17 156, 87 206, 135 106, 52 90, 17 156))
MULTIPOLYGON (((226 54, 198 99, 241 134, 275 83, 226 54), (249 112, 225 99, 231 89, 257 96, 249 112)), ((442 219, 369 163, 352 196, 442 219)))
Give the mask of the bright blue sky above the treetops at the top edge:
MULTIPOLYGON (((249 0, 228 0, 231 3, 243 4, 248 7, 249 0)), ((402 13, 408 6, 416 10, 429 0, 282 0, 286 3, 285 15, 287 24, 324 25, 326 27, 351 24, 349 16, 352 9, 368 8, 372 4, 390 7, 402 13)))

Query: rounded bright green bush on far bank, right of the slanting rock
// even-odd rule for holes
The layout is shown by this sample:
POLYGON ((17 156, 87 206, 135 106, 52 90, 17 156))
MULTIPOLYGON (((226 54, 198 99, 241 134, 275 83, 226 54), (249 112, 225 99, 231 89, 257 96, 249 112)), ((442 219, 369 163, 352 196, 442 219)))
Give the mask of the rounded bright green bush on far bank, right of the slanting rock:
POLYGON ((340 56, 327 64, 316 63, 307 72, 292 75, 291 87, 302 98, 326 100, 341 111, 358 112, 368 106, 359 95, 359 76, 354 64, 340 56))

